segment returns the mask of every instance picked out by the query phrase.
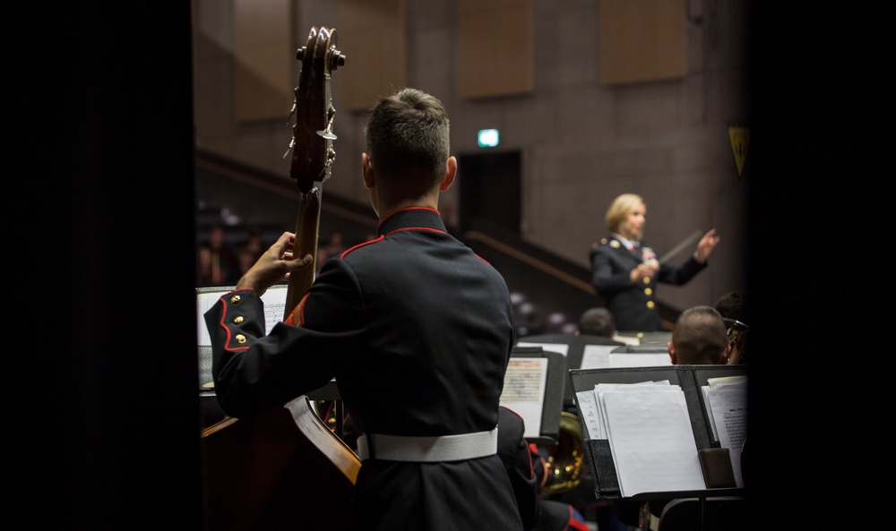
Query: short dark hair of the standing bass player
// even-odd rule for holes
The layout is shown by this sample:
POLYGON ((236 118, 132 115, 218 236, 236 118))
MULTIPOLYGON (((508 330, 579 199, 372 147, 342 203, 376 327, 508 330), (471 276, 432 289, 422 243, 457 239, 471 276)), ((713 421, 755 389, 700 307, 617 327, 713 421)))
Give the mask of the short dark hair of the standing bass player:
POLYGON ((380 98, 365 128, 367 154, 379 171, 401 179, 409 193, 422 195, 441 183, 450 150, 448 112, 442 102, 417 89, 380 98), (430 177, 421 182, 419 174, 430 177))

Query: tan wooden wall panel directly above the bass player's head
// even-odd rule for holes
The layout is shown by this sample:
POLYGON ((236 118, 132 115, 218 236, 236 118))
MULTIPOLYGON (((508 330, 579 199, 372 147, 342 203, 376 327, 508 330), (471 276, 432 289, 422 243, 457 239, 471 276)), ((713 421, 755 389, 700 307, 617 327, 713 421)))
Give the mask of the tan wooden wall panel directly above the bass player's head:
POLYGON ((346 56, 340 83, 347 110, 366 111, 408 82, 405 4, 405 0, 342 0, 337 37, 346 56))

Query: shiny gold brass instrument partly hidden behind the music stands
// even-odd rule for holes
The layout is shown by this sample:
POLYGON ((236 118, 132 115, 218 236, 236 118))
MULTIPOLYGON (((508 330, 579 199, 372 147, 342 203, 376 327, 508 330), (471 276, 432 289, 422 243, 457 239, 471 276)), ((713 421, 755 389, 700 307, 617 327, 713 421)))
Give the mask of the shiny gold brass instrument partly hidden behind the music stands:
POLYGON ((555 445, 547 446, 547 481, 543 492, 567 492, 582 483, 585 465, 585 443, 579 417, 569 411, 560 413, 560 433, 555 445))

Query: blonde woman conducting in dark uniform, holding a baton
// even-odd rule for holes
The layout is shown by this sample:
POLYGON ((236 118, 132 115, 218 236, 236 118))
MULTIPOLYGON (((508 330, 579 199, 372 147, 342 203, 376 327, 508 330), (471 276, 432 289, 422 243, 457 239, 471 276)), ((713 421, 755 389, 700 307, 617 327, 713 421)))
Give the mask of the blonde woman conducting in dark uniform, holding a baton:
MULTIPOLYGON (((609 234, 590 249, 591 284, 605 301, 621 331, 665 330, 656 305, 658 284, 683 286, 704 270, 719 244, 713 228, 681 265, 660 260, 642 242, 647 206, 635 193, 624 193, 610 204, 605 216, 609 234)), ((699 233, 698 235, 699 236, 699 233)))

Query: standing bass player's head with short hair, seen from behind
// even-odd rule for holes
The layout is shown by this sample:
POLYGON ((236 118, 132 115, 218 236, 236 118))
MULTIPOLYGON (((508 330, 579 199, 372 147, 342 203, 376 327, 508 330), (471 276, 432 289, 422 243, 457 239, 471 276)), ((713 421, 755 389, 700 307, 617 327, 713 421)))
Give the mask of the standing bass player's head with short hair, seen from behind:
POLYGON ((457 171, 442 102, 420 90, 398 90, 379 100, 365 133, 361 165, 377 215, 406 206, 437 208, 439 192, 457 171))

